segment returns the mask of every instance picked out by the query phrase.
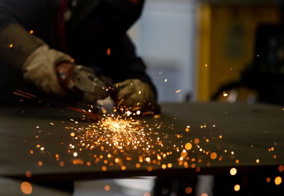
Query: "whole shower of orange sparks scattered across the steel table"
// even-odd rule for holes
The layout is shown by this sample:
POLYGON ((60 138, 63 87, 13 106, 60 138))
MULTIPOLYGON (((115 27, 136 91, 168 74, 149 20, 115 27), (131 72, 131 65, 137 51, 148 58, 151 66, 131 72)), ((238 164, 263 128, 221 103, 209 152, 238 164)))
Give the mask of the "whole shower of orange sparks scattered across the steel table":
MULTIPOLYGON (((180 90, 176 91, 176 93, 179 92, 180 90)), ((18 93, 21 93, 22 97, 33 97, 32 94, 23 91, 17 90, 17 92, 14 92, 14 94, 18 93)), ((140 93, 141 91, 138 94, 140 93)), ((227 96, 227 93, 224 92, 223 96, 227 96)), ((65 128, 70 130, 68 135, 72 137, 72 142, 64 143, 64 145, 68 145, 69 149, 67 152, 72 156, 72 163, 74 165, 92 167, 96 164, 101 164, 99 168, 102 171, 109 171, 109 168, 113 166, 123 171, 127 171, 129 168, 133 169, 134 167, 144 169, 148 172, 157 169, 175 169, 177 166, 181 166, 200 172, 204 166, 212 166, 216 161, 221 161, 225 155, 233 159, 234 164, 239 164, 237 150, 235 151, 233 148, 229 150, 228 146, 217 144, 216 149, 211 149, 211 151, 204 145, 208 145, 209 141, 222 141, 227 138, 226 134, 210 133, 210 135, 204 135, 204 137, 199 138, 191 135, 191 131, 195 128, 206 130, 214 127, 216 129, 216 125, 202 123, 202 125, 199 124, 198 127, 194 127, 184 124, 182 129, 177 130, 175 124, 158 122, 161 115, 154 115, 151 111, 141 112, 140 103, 136 104, 137 107, 126 108, 122 105, 122 102, 123 99, 118 103, 118 107, 112 108, 111 112, 101 107, 103 118, 96 121, 90 121, 85 116, 82 118, 84 123, 81 123, 82 121, 79 121, 79 119, 70 119, 69 126, 67 125, 65 128), (143 119, 143 115, 146 114, 152 114, 150 123, 143 119), (167 128, 168 130, 165 131, 167 128), (175 140, 171 141, 173 137, 175 137, 175 140), (92 149, 96 150, 89 151, 92 149), (86 150, 89 151, 88 160, 83 160, 85 154, 82 151, 86 152, 86 150), (209 160, 210 162, 208 162, 209 160)), ((103 104, 101 103, 101 105, 103 104)), ((94 108, 90 105, 90 108, 86 109, 86 111, 91 112, 94 108)), ((174 120, 177 120, 177 118, 178 116, 176 115, 174 120)), ((50 125, 54 125, 54 123, 50 122, 50 125)), ((62 121, 62 123, 64 122, 62 121)), ((34 125, 34 127, 37 130, 39 128, 37 125, 34 125)), ((37 134, 38 132, 41 131, 37 131, 37 134)), ((38 135, 36 135, 36 138, 38 138, 38 135)), ((44 144, 42 145, 45 146, 44 144)), ((29 150, 30 154, 38 151, 44 152, 48 149, 42 145, 36 144, 35 147, 37 150, 29 150)), ((273 151, 273 154, 275 154, 275 147, 269 146, 267 149, 269 152, 273 151)), ((273 154, 271 156, 275 159, 276 155, 273 154)), ((61 157, 59 158, 58 154, 55 155, 54 159, 58 161, 57 164, 60 167, 64 167, 67 164, 66 160, 63 161, 61 157)), ((259 159, 255 161, 256 163, 260 162, 259 159)), ((38 166, 43 167, 45 165, 42 161, 38 161, 38 166)), ((283 165, 280 165, 278 170, 282 172, 284 170, 283 165)), ((230 175, 235 176, 236 173, 236 168, 230 169, 230 175)), ((27 172, 26 176, 31 176, 31 173, 27 172)), ((267 182, 270 180, 273 181, 272 178, 267 177, 264 180, 267 182)), ((281 177, 276 177, 274 182, 276 185, 281 184, 281 177)), ((241 189, 241 186, 238 184, 234 184, 232 187, 235 191, 241 189)), ((110 187, 106 185, 105 190, 108 191, 109 189, 110 187)), ((192 188, 187 187, 184 191, 191 193, 192 188)))

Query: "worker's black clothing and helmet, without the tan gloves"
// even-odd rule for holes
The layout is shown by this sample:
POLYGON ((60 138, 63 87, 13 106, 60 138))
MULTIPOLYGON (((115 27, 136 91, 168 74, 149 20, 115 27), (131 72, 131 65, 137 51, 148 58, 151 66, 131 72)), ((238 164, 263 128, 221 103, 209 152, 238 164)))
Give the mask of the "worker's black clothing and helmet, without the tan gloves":
MULTIPOLYGON (((51 48, 72 56, 76 64, 93 68, 97 75, 109 76, 113 82, 137 78, 148 83, 156 94, 155 87, 145 73, 144 63, 136 57, 134 46, 125 33, 139 17, 143 0, 69 1, 67 12, 62 13, 66 22, 66 43, 61 38, 58 39, 62 35, 57 35, 60 30, 58 14, 61 14, 64 1, 66 3, 66 0, 0 0, 0 35, 1 30, 10 23, 19 23, 26 30, 33 30, 33 35, 41 38, 51 48)), ((7 46, 7 43, 4 44, 7 46)), ((22 47, 36 49, 39 44, 30 42, 22 47)), ((3 51, 6 49, 1 49, 0 37, 1 70, 20 70, 18 67, 4 68, 8 66, 5 64, 9 64, 5 58, 9 61, 16 58, 3 54, 3 51)), ((24 57, 25 55, 19 55, 18 61, 24 57)), ((0 73, 2 74, 7 76, 7 71, 0 73)), ((3 88, 5 81, 1 78, 0 86, 3 88)), ((5 85, 7 88, 9 84, 5 85)))

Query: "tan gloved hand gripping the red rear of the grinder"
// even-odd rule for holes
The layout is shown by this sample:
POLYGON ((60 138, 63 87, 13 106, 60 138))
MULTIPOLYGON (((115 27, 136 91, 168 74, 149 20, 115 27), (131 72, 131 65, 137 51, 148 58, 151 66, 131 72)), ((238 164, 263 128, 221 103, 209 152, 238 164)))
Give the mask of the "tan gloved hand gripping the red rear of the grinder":
POLYGON ((49 46, 44 44, 25 60, 22 67, 24 79, 45 93, 64 96, 66 91, 59 83, 55 66, 62 61, 71 62, 71 59, 69 55, 49 49, 49 46))

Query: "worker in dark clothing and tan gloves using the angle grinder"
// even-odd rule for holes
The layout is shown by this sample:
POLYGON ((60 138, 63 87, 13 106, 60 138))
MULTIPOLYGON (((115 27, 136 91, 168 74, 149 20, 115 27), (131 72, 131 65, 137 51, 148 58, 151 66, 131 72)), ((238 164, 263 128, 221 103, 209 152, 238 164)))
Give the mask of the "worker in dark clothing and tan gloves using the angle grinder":
POLYGON ((56 73, 67 62, 122 86, 113 99, 126 107, 155 103, 155 87, 126 34, 142 6, 143 0, 0 0, 1 94, 36 87, 67 99, 56 73))

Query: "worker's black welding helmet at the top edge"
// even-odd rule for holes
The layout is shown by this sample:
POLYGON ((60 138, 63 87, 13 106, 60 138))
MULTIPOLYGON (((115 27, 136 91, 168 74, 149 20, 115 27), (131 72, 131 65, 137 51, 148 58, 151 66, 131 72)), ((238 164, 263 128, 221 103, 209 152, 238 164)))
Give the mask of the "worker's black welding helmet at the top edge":
POLYGON ((78 5, 72 10, 71 20, 66 23, 71 55, 81 58, 103 55, 104 47, 121 40, 138 19, 143 2, 144 0, 78 1, 78 5))

